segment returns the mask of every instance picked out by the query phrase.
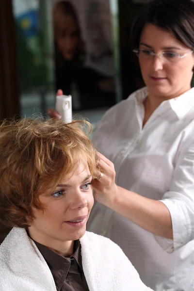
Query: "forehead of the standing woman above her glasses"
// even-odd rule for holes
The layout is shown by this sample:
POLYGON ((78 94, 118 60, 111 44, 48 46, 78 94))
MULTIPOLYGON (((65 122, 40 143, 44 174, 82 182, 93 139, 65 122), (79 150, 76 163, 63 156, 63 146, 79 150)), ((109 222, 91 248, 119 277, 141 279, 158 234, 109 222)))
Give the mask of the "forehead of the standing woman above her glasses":
POLYGON ((158 49, 165 47, 187 48, 172 33, 162 30, 153 24, 145 25, 140 37, 140 43, 145 43, 158 49))

